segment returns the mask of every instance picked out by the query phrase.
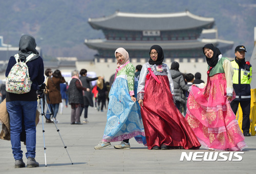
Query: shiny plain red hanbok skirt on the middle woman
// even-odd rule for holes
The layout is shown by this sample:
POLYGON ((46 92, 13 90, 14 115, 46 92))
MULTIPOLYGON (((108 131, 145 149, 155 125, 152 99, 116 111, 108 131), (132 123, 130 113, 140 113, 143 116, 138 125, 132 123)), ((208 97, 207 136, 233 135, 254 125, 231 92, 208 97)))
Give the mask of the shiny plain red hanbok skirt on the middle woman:
POLYGON ((170 92, 167 76, 152 76, 145 86, 141 116, 147 148, 168 145, 173 148, 198 149, 200 143, 183 115, 177 109, 170 92))

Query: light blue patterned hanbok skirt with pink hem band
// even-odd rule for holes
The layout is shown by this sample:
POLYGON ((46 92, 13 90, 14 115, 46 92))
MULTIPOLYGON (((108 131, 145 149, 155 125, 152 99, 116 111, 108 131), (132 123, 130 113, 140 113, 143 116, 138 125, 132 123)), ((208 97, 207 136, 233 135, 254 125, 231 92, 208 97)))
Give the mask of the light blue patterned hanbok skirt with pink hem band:
MULTIPOLYGON (((135 95, 138 81, 135 80, 135 95)), ((129 94, 125 76, 117 76, 109 93, 107 121, 102 141, 114 142, 135 137, 146 145, 145 132, 138 102, 129 94)))

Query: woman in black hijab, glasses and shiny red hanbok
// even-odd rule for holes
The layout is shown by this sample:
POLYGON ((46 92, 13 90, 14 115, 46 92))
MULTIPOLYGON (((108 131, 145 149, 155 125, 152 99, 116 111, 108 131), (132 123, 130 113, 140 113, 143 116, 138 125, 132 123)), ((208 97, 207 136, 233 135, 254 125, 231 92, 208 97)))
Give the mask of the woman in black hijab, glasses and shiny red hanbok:
POLYGON ((198 149, 200 143, 174 103, 174 84, 162 63, 163 50, 154 45, 150 60, 141 69, 137 100, 148 149, 198 149))

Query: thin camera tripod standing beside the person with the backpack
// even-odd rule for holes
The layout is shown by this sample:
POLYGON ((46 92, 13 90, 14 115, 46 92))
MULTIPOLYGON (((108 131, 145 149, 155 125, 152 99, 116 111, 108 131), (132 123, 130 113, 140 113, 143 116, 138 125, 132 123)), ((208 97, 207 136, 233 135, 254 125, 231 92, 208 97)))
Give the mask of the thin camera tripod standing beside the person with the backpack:
MULTIPOLYGON (((47 167, 47 163, 46 163, 46 145, 45 145, 45 128, 44 128, 44 117, 46 117, 46 115, 45 115, 45 105, 47 106, 48 111, 50 111, 50 113, 46 113, 46 114, 50 114, 50 116, 51 116, 51 118, 52 118, 53 113, 52 113, 52 108, 51 108, 51 110, 50 110, 48 104, 45 104, 45 103, 47 103, 47 100, 46 100, 46 97, 45 97, 45 94, 44 94, 44 90, 38 90, 38 91, 37 91, 37 95, 38 95, 38 99, 40 99, 40 103, 41 103, 42 136, 43 136, 43 139, 44 139, 45 164, 46 164, 46 167, 47 167)), ((37 104, 37 108, 38 108, 38 106, 39 106, 39 101, 38 101, 38 104, 37 104)), ((47 118, 47 117, 46 117, 46 118, 47 118)), ((64 146, 64 148, 66 149, 67 154, 68 154, 68 156, 69 156, 69 153, 68 153, 68 150, 67 150, 67 146, 65 145, 65 143, 63 142, 63 140, 62 140, 62 138, 61 138, 61 135, 60 135, 60 133, 59 133, 59 129, 58 129, 58 127, 57 127, 55 121, 53 121, 53 123, 54 123, 54 125, 55 125, 55 127, 56 127, 56 130, 57 130, 57 132, 58 132, 58 134, 59 134, 59 137, 60 137, 60 139, 61 139, 61 141, 62 141, 62 143, 63 143, 63 146, 64 146)), ((69 156, 69 159, 70 159, 70 161, 71 161, 71 164, 73 164, 73 162, 72 162, 70 156, 69 156)))

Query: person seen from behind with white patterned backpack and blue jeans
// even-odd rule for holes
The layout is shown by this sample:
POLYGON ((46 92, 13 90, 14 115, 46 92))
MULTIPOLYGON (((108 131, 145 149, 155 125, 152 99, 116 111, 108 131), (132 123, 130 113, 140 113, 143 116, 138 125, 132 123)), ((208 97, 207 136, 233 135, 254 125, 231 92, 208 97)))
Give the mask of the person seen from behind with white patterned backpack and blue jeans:
MULTIPOLYGON (((19 73, 22 73, 19 70, 19 73)), ((35 161, 35 147, 36 147, 36 107, 37 107, 37 94, 39 85, 44 83, 44 62, 39 56, 36 50, 35 38, 31 35, 25 34, 19 40, 18 54, 11 56, 6 69, 6 107, 10 117, 11 127, 11 145, 12 153, 15 159, 15 168, 25 167, 23 162, 23 151, 20 146, 20 133, 24 127, 26 131, 26 158, 27 167, 39 167, 39 164, 35 161), (24 69, 28 73, 28 77, 25 80, 30 81, 26 86, 19 86, 19 92, 12 90, 14 85, 10 82, 10 76, 13 77, 13 69, 15 69, 16 63, 26 62, 24 69), (26 89, 26 92, 22 92, 26 89), (28 92, 27 92, 28 91, 28 92), (24 124, 24 125, 23 125, 24 124)), ((22 76, 17 76, 22 77, 22 76)), ((24 79, 20 79, 22 81, 24 79)), ((18 81, 18 80, 17 80, 18 81)))

